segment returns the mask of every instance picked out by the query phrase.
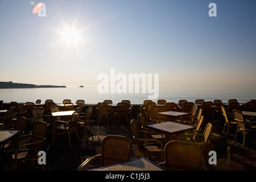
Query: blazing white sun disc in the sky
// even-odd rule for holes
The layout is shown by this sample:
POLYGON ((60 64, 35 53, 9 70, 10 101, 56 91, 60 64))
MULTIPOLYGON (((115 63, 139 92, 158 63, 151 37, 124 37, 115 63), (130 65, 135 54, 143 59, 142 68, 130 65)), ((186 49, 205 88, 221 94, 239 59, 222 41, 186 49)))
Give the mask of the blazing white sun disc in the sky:
POLYGON ((74 28, 66 28, 65 31, 62 32, 63 41, 65 43, 76 45, 79 43, 79 31, 76 31, 74 28))

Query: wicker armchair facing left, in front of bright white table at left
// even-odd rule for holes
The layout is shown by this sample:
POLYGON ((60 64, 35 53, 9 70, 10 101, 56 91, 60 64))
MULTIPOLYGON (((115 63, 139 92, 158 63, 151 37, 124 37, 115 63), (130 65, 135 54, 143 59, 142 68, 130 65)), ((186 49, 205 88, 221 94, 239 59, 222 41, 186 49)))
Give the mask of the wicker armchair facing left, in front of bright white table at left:
POLYGON ((79 134, 77 132, 77 122, 79 121, 81 111, 75 111, 69 121, 59 121, 56 120, 53 123, 53 133, 52 133, 52 144, 55 143, 55 135, 57 132, 64 132, 68 134, 68 143, 71 147, 71 133, 76 133, 77 139, 80 140, 79 134))

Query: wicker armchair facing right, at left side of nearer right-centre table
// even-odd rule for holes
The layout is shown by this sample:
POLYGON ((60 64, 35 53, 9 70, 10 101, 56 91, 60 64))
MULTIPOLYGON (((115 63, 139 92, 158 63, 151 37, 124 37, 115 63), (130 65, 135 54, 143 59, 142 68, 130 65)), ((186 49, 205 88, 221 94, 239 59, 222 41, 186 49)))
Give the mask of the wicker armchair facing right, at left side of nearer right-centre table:
POLYGON ((151 131, 140 131, 137 121, 135 119, 131 120, 131 130, 133 131, 133 138, 137 144, 138 151, 137 151, 137 158, 139 156, 146 156, 149 155, 158 158, 159 160, 163 161, 163 143, 159 139, 148 139, 143 138, 145 133, 151 131))

